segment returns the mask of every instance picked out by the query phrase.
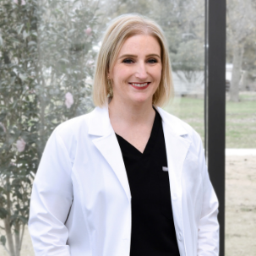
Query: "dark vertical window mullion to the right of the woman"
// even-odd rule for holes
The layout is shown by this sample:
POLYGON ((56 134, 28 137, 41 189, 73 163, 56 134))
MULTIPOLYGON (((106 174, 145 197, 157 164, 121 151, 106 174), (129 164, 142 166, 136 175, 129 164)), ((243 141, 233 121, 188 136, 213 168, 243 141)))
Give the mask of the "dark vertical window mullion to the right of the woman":
POLYGON ((226 0, 205 0, 205 149, 225 253, 226 0))

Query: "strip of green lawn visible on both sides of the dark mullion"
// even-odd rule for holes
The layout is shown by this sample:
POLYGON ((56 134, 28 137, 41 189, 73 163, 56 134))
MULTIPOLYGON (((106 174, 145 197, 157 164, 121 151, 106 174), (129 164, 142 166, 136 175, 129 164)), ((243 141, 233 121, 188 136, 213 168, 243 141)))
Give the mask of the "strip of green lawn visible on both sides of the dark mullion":
MULTIPOLYGON (((226 101, 226 148, 256 148, 256 93, 226 101)), ((204 99, 177 97, 165 110, 190 124, 204 141, 204 99)))

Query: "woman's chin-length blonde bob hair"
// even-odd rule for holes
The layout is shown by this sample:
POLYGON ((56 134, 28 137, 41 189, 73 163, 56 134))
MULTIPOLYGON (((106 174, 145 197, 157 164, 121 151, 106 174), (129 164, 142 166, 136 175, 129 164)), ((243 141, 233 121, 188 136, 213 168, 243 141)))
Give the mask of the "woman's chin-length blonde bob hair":
POLYGON ((124 14, 112 20, 103 36, 93 84, 95 106, 106 106, 107 98, 114 96, 111 81, 107 80, 107 74, 112 71, 124 41, 133 35, 153 36, 161 46, 161 81, 153 95, 152 104, 163 106, 173 95, 171 63, 166 38, 161 27, 155 21, 139 14, 124 14))

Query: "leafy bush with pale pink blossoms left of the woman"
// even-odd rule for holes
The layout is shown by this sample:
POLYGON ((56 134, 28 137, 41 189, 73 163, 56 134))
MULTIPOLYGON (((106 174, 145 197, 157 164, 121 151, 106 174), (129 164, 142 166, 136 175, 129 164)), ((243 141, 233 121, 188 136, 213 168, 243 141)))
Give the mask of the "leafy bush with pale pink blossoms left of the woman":
POLYGON ((93 106, 96 12, 89 1, 0 3, 0 242, 12 256, 20 253, 46 139, 93 106))

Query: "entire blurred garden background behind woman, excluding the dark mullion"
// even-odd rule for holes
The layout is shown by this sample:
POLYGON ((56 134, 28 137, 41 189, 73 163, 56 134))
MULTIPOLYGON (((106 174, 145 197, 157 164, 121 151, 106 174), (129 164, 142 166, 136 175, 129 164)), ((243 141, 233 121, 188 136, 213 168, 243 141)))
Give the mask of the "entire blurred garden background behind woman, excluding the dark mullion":
MULTIPOLYGON (((95 57, 120 14, 166 34, 175 97, 166 111, 204 141, 204 0, 1 0, 0 255, 34 255, 30 192, 46 140, 93 108, 95 57)), ((256 255, 256 3, 227 0, 226 255, 256 255)), ((218 102, 215 102, 218 104, 218 102)))

